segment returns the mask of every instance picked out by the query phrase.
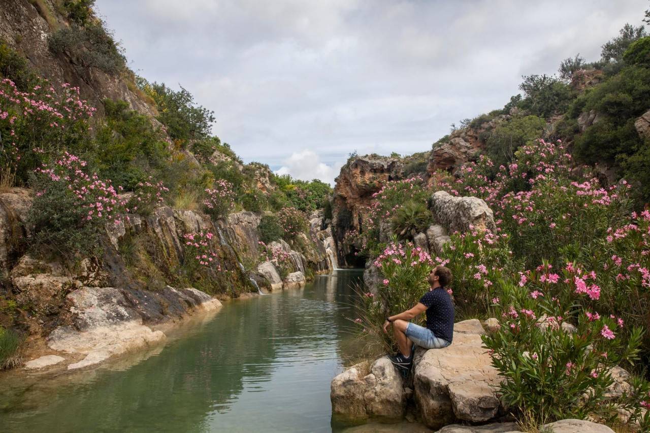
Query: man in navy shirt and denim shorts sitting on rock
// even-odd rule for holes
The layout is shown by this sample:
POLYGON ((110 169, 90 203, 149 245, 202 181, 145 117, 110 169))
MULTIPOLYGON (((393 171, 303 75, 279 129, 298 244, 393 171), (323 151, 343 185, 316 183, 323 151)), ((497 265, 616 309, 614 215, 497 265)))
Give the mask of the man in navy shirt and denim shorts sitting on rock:
POLYGON ((387 317, 383 331, 393 324, 393 334, 400 351, 388 358, 402 371, 408 373, 413 364, 413 348, 443 348, 451 344, 454 337, 454 304, 445 286, 451 282, 451 271, 444 266, 437 266, 429 272, 429 290, 422 295, 413 308, 403 313, 387 317), (426 328, 410 321, 426 311, 426 328))

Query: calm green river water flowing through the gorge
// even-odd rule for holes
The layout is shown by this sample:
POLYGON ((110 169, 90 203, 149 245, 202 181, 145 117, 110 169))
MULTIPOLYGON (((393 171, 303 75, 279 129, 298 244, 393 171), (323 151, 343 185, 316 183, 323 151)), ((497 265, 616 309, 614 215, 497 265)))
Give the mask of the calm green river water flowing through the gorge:
POLYGON ((92 371, 0 376, 0 432, 336 431, 330 381, 354 347, 361 275, 227 302, 92 371))

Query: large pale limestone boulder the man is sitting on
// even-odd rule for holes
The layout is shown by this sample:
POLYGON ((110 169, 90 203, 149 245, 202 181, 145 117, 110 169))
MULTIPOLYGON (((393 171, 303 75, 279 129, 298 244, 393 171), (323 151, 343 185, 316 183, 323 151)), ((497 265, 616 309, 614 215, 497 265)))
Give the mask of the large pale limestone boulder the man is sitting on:
POLYGON ((417 350, 413 384, 422 421, 440 428, 457 419, 491 419, 500 403, 494 389, 500 379, 482 347, 484 330, 476 319, 454 326, 454 342, 442 349, 417 350))

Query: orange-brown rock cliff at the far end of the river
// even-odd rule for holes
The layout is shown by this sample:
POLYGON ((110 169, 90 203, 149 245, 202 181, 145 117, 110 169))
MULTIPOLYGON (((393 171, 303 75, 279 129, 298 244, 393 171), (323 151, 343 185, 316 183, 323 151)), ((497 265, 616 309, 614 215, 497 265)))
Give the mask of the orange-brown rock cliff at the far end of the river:
POLYGON ((400 159, 379 155, 355 157, 341 168, 332 202, 332 235, 339 265, 361 264, 344 243, 344 236, 350 230, 361 229, 361 213, 372 201, 372 194, 382 189, 387 181, 402 177, 400 159))

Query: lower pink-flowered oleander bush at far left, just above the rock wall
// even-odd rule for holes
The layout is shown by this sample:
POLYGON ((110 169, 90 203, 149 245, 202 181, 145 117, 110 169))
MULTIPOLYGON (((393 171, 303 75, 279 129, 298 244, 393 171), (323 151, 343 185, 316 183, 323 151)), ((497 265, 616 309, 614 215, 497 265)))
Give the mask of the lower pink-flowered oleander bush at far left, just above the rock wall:
POLYGON ((106 224, 120 222, 124 203, 118 192, 109 180, 86 174, 85 166, 85 161, 65 153, 36 172, 36 197, 28 216, 34 249, 96 256, 106 224))

